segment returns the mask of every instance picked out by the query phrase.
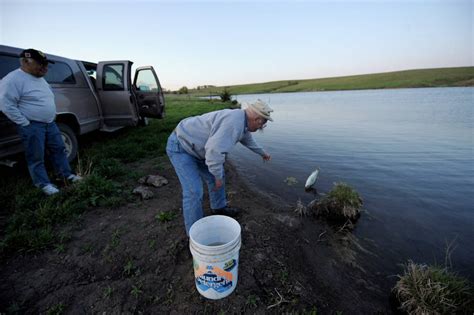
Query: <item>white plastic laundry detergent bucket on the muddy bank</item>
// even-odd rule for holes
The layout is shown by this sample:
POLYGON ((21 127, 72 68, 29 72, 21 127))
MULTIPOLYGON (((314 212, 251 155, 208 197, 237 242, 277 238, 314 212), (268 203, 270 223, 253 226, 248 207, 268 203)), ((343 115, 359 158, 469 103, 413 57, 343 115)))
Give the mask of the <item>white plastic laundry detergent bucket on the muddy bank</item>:
POLYGON ((240 224, 227 216, 212 215, 189 230, 196 289, 208 299, 222 299, 237 286, 240 224))

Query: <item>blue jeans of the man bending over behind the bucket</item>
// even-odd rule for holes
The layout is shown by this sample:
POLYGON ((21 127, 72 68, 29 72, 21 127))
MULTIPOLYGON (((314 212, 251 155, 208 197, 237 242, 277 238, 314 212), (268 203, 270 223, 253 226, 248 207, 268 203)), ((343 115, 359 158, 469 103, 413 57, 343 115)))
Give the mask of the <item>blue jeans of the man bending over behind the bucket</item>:
POLYGON ((184 225, 186 227, 186 234, 189 235, 191 225, 203 217, 202 180, 207 183, 212 209, 224 208, 227 205, 225 185, 223 184, 220 189, 214 191, 215 178, 214 175, 209 173, 205 161, 187 153, 181 147, 175 132, 168 138, 166 153, 171 160, 171 164, 173 164, 183 189, 184 225))

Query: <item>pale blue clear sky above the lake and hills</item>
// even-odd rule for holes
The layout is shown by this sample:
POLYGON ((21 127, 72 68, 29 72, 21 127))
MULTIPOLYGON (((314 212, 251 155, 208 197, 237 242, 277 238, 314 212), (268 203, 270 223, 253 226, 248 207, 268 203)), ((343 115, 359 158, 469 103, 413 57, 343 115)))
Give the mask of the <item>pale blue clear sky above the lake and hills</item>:
POLYGON ((0 44, 152 65, 163 88, 473 66, 474 0, 0 0, 0 44))

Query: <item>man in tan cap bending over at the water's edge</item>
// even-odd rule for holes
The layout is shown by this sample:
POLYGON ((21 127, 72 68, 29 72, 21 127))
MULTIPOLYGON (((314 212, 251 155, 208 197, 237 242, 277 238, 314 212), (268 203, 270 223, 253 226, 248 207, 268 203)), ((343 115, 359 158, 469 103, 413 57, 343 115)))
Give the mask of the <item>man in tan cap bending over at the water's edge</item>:
POLYGON ((211 211, 234 216, 238 210, 227 206, 224 162, 227 153, 242 143, 262 156, 270 155, 260 147, 251 132, 263 129, 273 121, 273 110, 261 100, 245 110, 224 109, 182 120, 168 138, 166 153, 174 166, 183 189, 183 216, 186 234, 194 222, 203 217, 203 185, 209 190, 211 211))

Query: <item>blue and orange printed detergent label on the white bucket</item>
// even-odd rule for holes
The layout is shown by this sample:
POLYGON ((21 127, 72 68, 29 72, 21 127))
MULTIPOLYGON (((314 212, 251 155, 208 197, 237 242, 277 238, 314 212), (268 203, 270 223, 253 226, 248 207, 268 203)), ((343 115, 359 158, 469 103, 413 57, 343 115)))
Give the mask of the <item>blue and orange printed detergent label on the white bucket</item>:
POLYGON ((222 293, 232 287, 233 275, 231 272, 211 265, 207 266, 207 270, 202 269, 197 270, 198 272, 196 273, 196 285, 202 291, 214 289, 215 291, 222 293))

